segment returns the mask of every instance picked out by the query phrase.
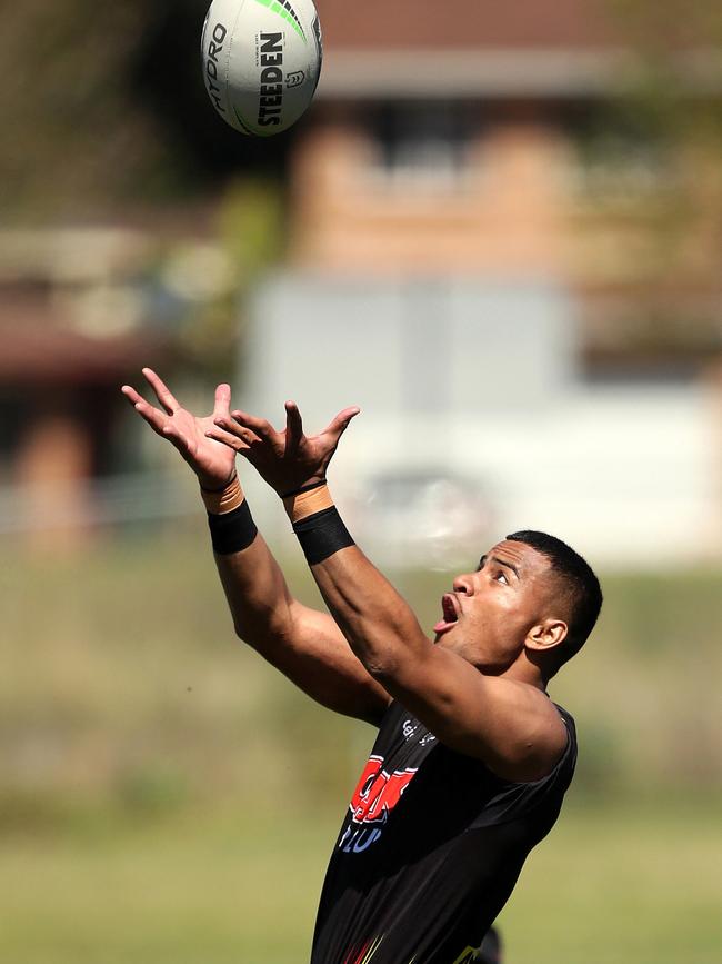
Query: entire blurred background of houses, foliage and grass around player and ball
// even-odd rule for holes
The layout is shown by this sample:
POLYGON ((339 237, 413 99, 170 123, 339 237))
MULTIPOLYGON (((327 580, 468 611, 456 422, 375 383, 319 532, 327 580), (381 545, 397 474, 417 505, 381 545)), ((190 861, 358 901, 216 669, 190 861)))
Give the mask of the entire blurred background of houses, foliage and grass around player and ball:
POLYGON ((208 102, 205 9, 3 10, 0 960, 308 960, 372 742, 233 639, 193 478, 119 392, 152 365, 202 414, 221 379, 312 429, 360 405, 334 493, 425 626, 511 529, 589 558, 578 778, 508 962, 719 962, 719 4, 320 0, 271 140, 208 102))

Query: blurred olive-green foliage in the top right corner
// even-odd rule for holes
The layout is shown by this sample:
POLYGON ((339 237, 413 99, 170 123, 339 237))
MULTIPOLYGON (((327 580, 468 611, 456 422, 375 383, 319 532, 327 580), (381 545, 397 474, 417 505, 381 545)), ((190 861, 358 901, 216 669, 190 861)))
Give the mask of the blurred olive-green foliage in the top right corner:
POLYGON ((610 0, 609 9, 633 56, 620 70, 593 150, 598 159, 611 151, 613 161, 622 161, 622 186, 635 168, 646 175, 636 177, 631 195, 646 209, 649 270, 659 284, 686 278, 715 286, 722 246, 720 4, 610 0), (620 140, 620 131, 631 138, 620 140))

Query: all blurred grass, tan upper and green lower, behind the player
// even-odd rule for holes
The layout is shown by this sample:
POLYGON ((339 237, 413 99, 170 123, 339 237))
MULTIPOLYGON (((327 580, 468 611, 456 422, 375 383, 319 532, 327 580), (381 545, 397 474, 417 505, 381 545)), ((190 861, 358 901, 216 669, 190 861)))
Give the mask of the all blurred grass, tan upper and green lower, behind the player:
MULTIPOLYGON (((303 964, 371 729, 233 639, 198 529, 12 558, 0 961, 303 964)), ((397 577, 422 625, 449 580, 397 577)), ((504 912, 508 964, 722 960, 721 582, 604 579, 589 652, 552 687, 580 767, 504 912)), ((315 598, 298 566, 293 584, 315 598)))

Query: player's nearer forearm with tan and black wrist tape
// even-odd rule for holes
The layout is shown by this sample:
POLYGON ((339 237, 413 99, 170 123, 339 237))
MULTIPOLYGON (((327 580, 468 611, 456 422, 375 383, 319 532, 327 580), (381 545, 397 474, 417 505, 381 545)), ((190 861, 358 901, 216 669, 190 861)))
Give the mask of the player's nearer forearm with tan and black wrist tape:
MULTIPOLYGON (((302 528, 299 523, 313 526, 319 514, 333 508, 325 487, 301 498, 284 499, 284 505, 297 529, 302 528)), ((333 533, 334 525, 338 524, 329 519, 327 531, 333 533)), ((350 538, 317 533, 308 551, 308 537, 303 534, 299 537, 305 544, 307 559, 327 606, 372 675, 388 679, 404 660, 428 650, 430 643, 410 606, 361 549, 343 545, 333 550, 337 544, 350 543, 350 538)))

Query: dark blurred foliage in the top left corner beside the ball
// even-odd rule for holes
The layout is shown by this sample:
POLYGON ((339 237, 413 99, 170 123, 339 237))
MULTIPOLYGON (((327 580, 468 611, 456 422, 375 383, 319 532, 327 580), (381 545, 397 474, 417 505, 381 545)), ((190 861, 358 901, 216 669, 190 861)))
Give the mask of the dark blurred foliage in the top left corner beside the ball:
POLYGON ((6 223, 127 222, 148 207, 188 210, 249 170, 278 173, 289 136, 254 142, 210 106, 199 57, 205 0, 4 6, 6 223))

